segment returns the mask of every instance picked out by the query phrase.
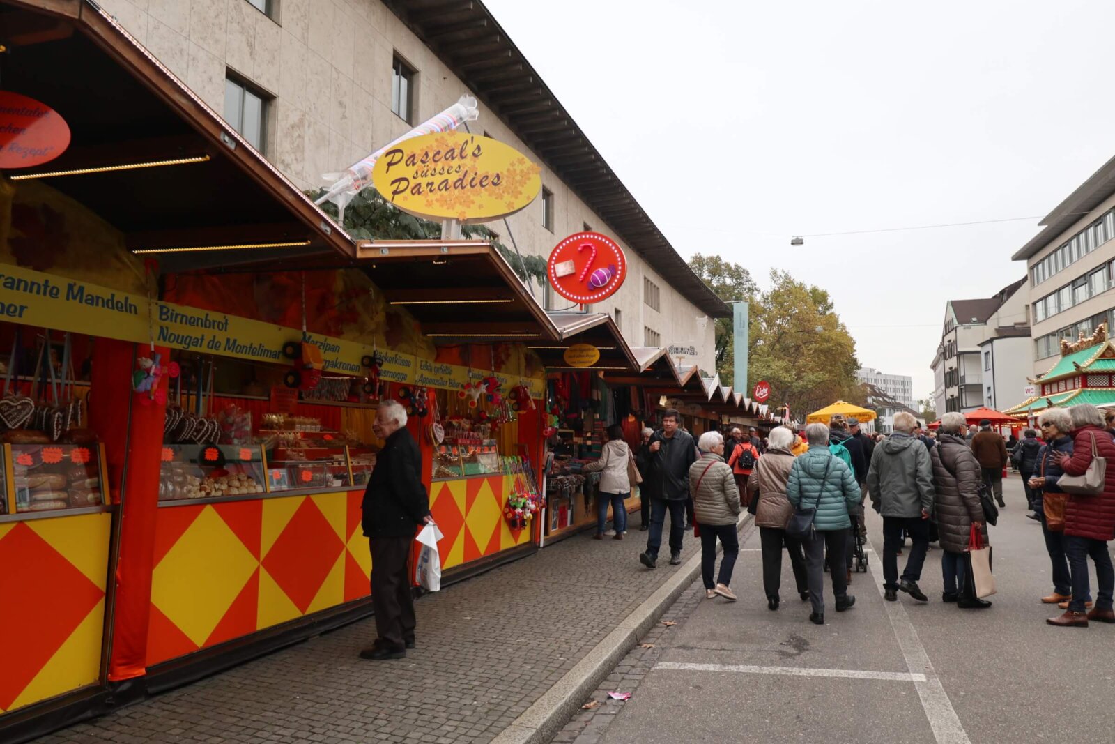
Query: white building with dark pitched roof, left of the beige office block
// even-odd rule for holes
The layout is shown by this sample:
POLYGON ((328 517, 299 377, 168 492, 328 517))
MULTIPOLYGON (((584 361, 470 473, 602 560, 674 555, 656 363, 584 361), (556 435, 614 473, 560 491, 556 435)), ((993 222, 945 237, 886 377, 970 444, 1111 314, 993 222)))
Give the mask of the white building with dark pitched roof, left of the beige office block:
POLYGON ((1025 282, 1019 279, 986 299, 946 303, 931 364, 938 415, 1021 399, 1029 352, 1025 282))

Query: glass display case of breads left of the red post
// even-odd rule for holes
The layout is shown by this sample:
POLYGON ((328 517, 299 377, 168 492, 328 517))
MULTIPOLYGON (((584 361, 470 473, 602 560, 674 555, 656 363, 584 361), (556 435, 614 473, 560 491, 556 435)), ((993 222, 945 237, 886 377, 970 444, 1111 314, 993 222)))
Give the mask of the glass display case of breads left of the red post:
POLYGON ((3 460, 16 513, 105 504, 100 444, 6 444, 3 460))

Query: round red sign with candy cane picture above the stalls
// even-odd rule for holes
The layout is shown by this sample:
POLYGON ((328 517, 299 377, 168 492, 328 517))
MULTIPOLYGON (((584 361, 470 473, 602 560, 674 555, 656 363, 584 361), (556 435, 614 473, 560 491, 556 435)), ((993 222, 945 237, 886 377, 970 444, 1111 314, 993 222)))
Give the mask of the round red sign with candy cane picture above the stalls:
POLYGON ((579 232, 554 247, 546 265, 554 291, 579 305, 615 293, 627 279, 627 258, 614 240, 599 232, 579 232))

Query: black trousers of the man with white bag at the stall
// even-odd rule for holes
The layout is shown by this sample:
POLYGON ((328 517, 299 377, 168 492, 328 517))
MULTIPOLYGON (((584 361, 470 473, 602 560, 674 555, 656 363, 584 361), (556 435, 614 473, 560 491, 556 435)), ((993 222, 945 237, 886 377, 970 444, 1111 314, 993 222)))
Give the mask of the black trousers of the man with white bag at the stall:
POLYGON ((378 646, 405 648, 415 637, 415 600, 410 593, 410 545, 414 538, 372 538, 371 608, 378 646))

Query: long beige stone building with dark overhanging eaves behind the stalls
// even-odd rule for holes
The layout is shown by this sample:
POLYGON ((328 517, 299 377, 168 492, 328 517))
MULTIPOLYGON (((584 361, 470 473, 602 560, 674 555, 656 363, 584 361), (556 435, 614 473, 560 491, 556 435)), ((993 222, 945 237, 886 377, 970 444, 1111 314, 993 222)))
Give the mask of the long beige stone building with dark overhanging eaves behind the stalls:
MULTIPOLYGON (((585 229, 623 248, 628 278, 591 308, 633 347, 694 346, 716 369, 730 310, 670 245, 479 1, 99 0, 172 73, 302 189, 388 144, 462 95, 471 131, 542 166, 527 209, 488 226, 545 258, 585 229)), ((617 126, 623 124, 617 119, 617 126)), ((234 210, 235 204, 230 204, 234 210)), ((568 302, 531 282, 547 309, 568 302)))

